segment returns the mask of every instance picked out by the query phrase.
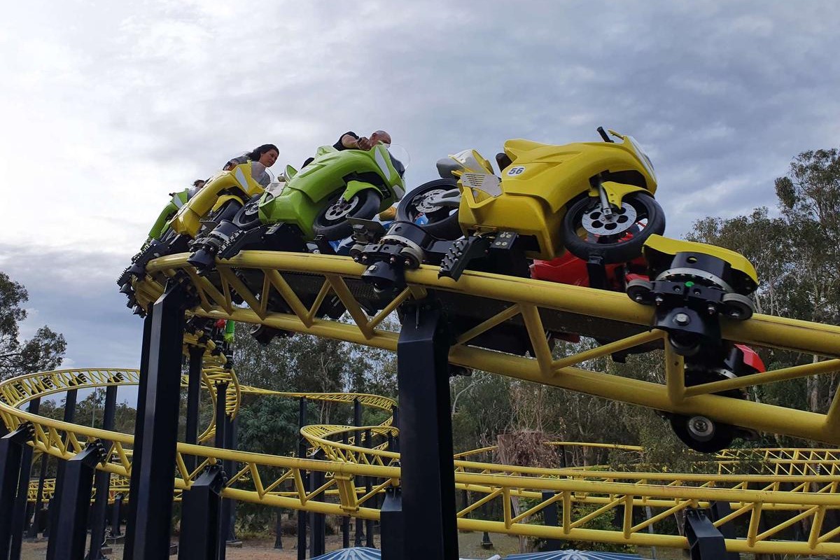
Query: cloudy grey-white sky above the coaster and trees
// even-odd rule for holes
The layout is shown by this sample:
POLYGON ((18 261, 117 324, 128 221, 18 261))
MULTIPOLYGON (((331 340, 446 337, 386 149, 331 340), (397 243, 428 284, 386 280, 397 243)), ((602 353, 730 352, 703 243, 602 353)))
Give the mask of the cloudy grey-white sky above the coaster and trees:
MULTIPOLYGON (((0 21, 0 270, 66 366, 136 367, 114 279, 166 193, 270 142, 390 131, 409 186, 460 149, 632 133, 668 233, 774 205, 840 138, 840 4, 30 0, 0 21)), ((278 168, 280 166, 278 165, 278 168)))

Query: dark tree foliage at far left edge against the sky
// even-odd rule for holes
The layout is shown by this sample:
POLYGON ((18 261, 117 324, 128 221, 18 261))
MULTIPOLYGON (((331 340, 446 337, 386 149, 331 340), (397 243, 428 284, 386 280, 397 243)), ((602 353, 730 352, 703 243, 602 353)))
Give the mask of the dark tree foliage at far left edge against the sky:
POLYGON ((64 336, 47 326, 40 327, 29 340, 20 340, 19 323, 27 317, 26 301, 26 288, 0 272, 0 379, 55 369, 67 349, 64 336))

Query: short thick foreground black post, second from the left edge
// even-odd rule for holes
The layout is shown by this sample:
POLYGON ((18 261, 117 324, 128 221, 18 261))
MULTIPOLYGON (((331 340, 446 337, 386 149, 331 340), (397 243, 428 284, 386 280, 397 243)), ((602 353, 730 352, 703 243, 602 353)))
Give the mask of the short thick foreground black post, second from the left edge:
POLYGON ((96 441, 67 461, 65 484, 61 489, 61 510, 58 512, 55 557, 51 560, 78 560, 85 555, 87 516, 91 509, 93 473, 105 456, 102 442, 96 441))

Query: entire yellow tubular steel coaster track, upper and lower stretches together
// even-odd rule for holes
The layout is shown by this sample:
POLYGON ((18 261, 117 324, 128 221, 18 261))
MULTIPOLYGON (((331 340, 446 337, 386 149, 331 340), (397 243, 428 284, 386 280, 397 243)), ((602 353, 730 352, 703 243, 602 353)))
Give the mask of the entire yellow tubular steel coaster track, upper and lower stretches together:
MULTIPOLYGON (((477 272, 467 272, 457 282, 438 280, 437 270, 422 267, 408 271, 407 289, 390 301, 377 301, 375 307, 380 311, 370 315, 364 309, 370 308, 365 303, 370 303, 371 290, 359 280, 364 269, 350 259, 320 254, 244 252, 219 263, 218 275, 206 278, 198 276, 186 264, 186 256, 172 255, 149 264, 149 275, 134 282, 142 306, 148 306, 160 296, 166 280, 183 277, 192 283, 199 301, 190 311, 194 315, 262 324, 396 350, 399 333, 383 328, 383 321, 404 301, 422 298, 428 290, 435 290, 447 305, 491 310, 475 327, 459 334, 449 353, 451 364, 660 411, 685 415, 701 413, 717 421, 759 431, 840 443, 840 400, 837 397, 829 410, 821 414, 715 395, 724 390, 834 373, 840 369, 840 327, 762 315, 746 322, 722 319, 722 333, 727 340, 813 354, 822 361, 685 387, 682 359, 669 351, 668 344, 664 344, 664 383, 627 379, 592 369, 596 358, 629 348, 662 345, 664 334, 649 328, 653 310, 630 301, 623 294, 477 272), (244 277, 248 279, 247 283, 242 280, 244 277), (258 286, 259 290, 249 286, 258 286), (308 293, 302 294, 302 290, 308 290, 308 293), (352 322, 317 317, 323 301, 333 295, 338 296, 347 308, 352 322), (270 305, 278 298, 284 302, 286 311, 270 305), (234 301, 244 301, 244 304, 238 305, 234 301), (307 301, 307 305, 303 301, 307 301), (559 358, 552 354, 545 337, 547 329, 562 331, 563 325, 571 323, 585 327, 593 322, 600 322, 599 327, 606 326, 611 334, 619 335, 613 337, 618 340, 559 358), (533 357, 501 353, 475 344, 476 337, 482 333, 506 325, 527 333, 533 357)), ((228 371, 223 366, 219 369, 228 371)), ((0 399, 3 421, 9 428, 17 427, 22 421, 32 422, 35 449, 60 458, 70 458, 91 439, 110 442, 110 460, 102 468, 130 476, 130 436, 65 424, 18 409, 27 398, 59 392, 60 389, 51 385, 55 375, 60 380, 63 374, 32 374, 0 384, 0 395, 6 395, 7 385, 18 384, 8 393, 14 398, 4 396, 0 399), (45 379, 51 380, 45 383, 45 379), (29 387, 29 390, 20 390, 20 387, 29 387), (66 432, 66 439, 60 437, 61 432, 66 432)), ((107 385, 113 381, 99 379, 97 382, 107 385)), ((208 387, 210 385, 213 383, 208 387)), ((228 409, 238 406, 242 390, 244 388, 237 390, 236 402, 233 406, 228 403, 228 409)), ((317 398, 315 395, 297 396, 317 398)), ((344 397, 345 401, 352 398, 344 397)), ((381 404, 383 409, 389 406, 381 404)), ((383 489, 399 484, 400 471, 396 466, 399 456, 384 443, 358 445, 354 434, 367 429, 374 437, 396 432, 388 423, 370 428, 305 428, 303 433, 312 447, 323 449, 327 461, 272 457, 179 443, 176 489, 188 489, 207 464, 229 459, 237 465, 237 471, 231 474, 224 489, 224 495, 228 497, 325 514, 377 518, 379 511, 374 498, 383 489), (349 435, 348 443, 342 442, 345 434, 349 435), (186 468, 185 454, 199 458, 198 466, 192 472, 186 468), (325 473, 325 484, 312 491, 306 489, 302 482, 302 474, 306 471, 325 473), (357 482, 356 478, 360 476, 372 477, 375 481, 370 492, 357 482)), ((835 450, 752 452, 759 454, 747 458, 749 461, 763 461, 759 472, 754 474, 738 474, 743 465, 738 452, 722 454, 718 474, 669 474, 498 465, 475 460, 481 451, 462 454, 455 460, 455 484, 470 495, 469 505, 458 513, 460 529, 685 548, 685 537, 649 533, 648 526, 687 508, 726 501, 732 507, 732 515, 716 524, 741 522, 738 526, 740 538, 727 540, 730 551, 840 555, 840 543, 832 542, 840 536, 840 527, 827 522, 827 512, 840 508, 840 496, 837 495, 837 484, 840 483, 837 453, 840 452, 835 450), (543 499, 545 491, 551 493, 548 500, 543 499), (529 509, 517 513, 511 505, 512 497, 528 498, 529 509), (501 503, 501 520, 487 519, 481 506, 496 501, 501 503), (559 527, 528 523, 530 516, 552 503, 557 503, 561 510, 559 527), (579 505, 589 505, 589 509, 581 509, 579 505), (638 521, 640 516, 634 516, 634 512, 648 507, 654 510, 654 516, 638 521), (771 520, 765 515, 769 511, 788 514, 784 521, 771 520), (622 526, 617 530, 586 528, 587 522, 595 517, 616 513, 622 519, 622 526), (774 540, 780 531, 799 521, 810 526, 806 541, 774 540)))

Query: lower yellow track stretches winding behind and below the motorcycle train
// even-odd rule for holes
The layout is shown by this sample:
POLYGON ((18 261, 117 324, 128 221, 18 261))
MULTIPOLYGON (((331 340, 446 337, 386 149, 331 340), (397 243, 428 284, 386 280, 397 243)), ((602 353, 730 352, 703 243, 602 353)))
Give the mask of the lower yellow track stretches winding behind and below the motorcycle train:
MULTIPOLYGON (((55 421, 20 410, 27 400, 54 395, 60 390, 55 379, 76 379, 68 387, 79 389, 109 384, 128 385, 127 379, 136 378, 136 370, 100 369, 86 370, 81 379, 80 370, 64 370, 44 374, 28 374, 0 383, 0 416, 10 429, 29 421, 34 431, 33 447, 42 453, 59 458, 71 458, 87 442, 99 439, 108 442, 108 462, 100 468, 128 477, 131 474, 132 437, 118 432, 105 432, 92 427, 81 427, 55 421), (93 374, 97 372, 97 374, 93 374), (123 380, 114 373, 121 372, 123 380), (35 390, 22 391, 26 387, 35 390), (6 395, 14 395, 9 401, 6 395), (60 437, 66 432, 66 440, 60 437)), ((243 387, 243 392, 251 388, 243 387)), ((279 394, 290 397, 305 396, 312 400, 352 402, 364 399, 368 406, 390 410, 391 400, 375 395, 340 395, 276 393, 254 390, 260 394, 279 394)), ((387 436, 395 428, 375 427, 307 427, 303 432, 313 447, 327 453, 328 461, 275 457, 207 446, 179 443, 176 456, 176 493, 188 489, 208 464, 229 459, 234 461, 236 472, 231 474, 223 494, 236 500, 264 505, 309 510, 318 513, 359 516, 375 519, 379 511, 375 497, 383 489, 399 484, 400 471, 396 465, 397 453, 388 451, 384 444, 371 448, 356 447, 351 437, 357 432, 370 430, 373 434, 387 436), (337 442, 350 436, 349 443, 337 442), (195 455, 199 465, 188 471, 184 455, 195 455), (320 471, 327 474, 325 484, 309 490, 303 484, 303 474, 320 471), (372 477, 370 492, 357 482, 359 477, 372 477), (322 501, 323 500, 323 501, 322 501)), ((366 442, 371 445, 373 442, 366 442)), ((571 446, 575 443, 562 443, 571 446)), ((600 444, 604 445, 604 444, 600 444)), ((639 447, 609 446, 627 453, 638 453, 639 447)), ((762 449, 727 451, 720 455, 720 474, 671 474, 657 472, 615 472, 599 468, 528 468, 494 463, 481 463, 475 458, 491 453, 486 447, 469 453, 460 453, 455 461, 455 484, 465 490, 470 502, 459 511, 458 526, 472 531, 492 531, 544 538, 569 538, 643 546, 687 547, 685 537, 648 533, 648 526, 689 508, 705 507, 712 501, 726 501, 732 514, 717 521, 741 521, 741 538, 728 539, 729 550, 755 553, 840 554, 840 543, 832 542, 840 534, 840 527, 827 521, 829 512, 840 508, 837 496, 837 461, 840 450, 830 449, 762 449), (767 463, 754 463, 755 458, 767 463), (731 474, 743 466, 758 468, 759 474, 731 474), (727 471, 729 471, 727 473, 727 471), (544 492, 549 492, 546 499, 544 492), (512 509, 511 498, 528 499, 528 509, 517 513, 512 509), (501 501, 501 521, 486 519, 482 506, 501 501), (560 526, 541 526, 528 523, 528 518, 543 508, 557 503, 562 516, 560 526), (650 508, 653 516, 643 516, 650 508), (776 516, 769 519, 769 512, 776 516), (586 528, 587 522, 597 516, 618 516, 621 526, 614 531, 586 528), (778 516, 783 516, 779 520, 778 516), (772 540, 781 531, 798 521, 808 521, 810 532, 806 541, 791 542, 772 540), (760 527, 760 529, 759 529, 760 527)), ((125 478, 119 478, 113 489, 124 489, 125 478)))

